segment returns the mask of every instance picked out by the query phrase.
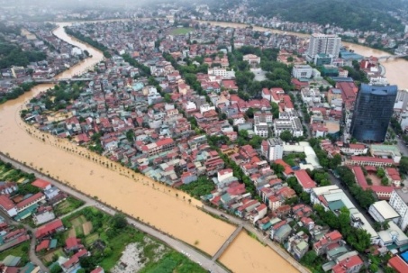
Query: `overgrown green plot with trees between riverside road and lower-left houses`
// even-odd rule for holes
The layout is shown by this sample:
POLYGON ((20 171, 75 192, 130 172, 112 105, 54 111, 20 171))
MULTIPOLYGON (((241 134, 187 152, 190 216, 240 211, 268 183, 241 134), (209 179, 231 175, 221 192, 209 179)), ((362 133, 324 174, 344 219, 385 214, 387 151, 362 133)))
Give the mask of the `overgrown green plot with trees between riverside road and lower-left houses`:
POLYGON ((141 262, 146 263, 142 272, 204 272, 203 268, 182 254, 169 250, 167 246, 158 252, 162 244, 132 228, 123 214, 111 216, 94 207, 86 207, 62 221, 68 231, 56 235, 59 244, 64 243, 72 229, 77 229, 87 223, 92 224, 91 231, 85 232, 84 228, 83 233, 77 236, 83 240, 86 249, 91 251, 90 257, 83 257, 79 260, 81 267, 86 272, 93 270, 97 265, 104 268, 105 271, 111 270, 121 258, 125 247, 133 242, 138 243, 138 249, 142 250, 139 254, 141 262), (161 255, 163 256, 160 258, 161 255), (172 269, 161 271, 162 268, 172 269))

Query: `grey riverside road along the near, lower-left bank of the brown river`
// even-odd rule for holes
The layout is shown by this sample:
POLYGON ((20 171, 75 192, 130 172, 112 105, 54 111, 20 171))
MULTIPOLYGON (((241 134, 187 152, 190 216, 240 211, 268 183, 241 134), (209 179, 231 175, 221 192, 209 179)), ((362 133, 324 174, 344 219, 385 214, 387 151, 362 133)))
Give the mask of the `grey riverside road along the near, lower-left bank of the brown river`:
MULTIPOLYGON (((113 214, 118 213, 117 211, 113 210, 113 208, 110 208, 110 207, 104 205, 102 202, 99 202, 99 201, 93 199, 92 197, 86 196, 86 195, 84 195, 84 194, 82 194, 80 192, 77 192, 77 190, 75 190, 75 189, 73 189, 71 187, 68 187, 67 185, 65 185, 63 183, 60 183, 59 181, 57 181, 55 179, 47 177, 47 176, 45 176, 44 174, 42 174, 41 172, 39 172, 39 171, 37 171, 35 169, 24 166, 23 164, 21 164, 20 162, 15 161, 14 159, 9 159, 8 157, 6 157, 2 153, 0 153, 0 159, 5 161, 5 162, 9 162, 9 163, 13 164, 14 167, 20 168, 24 172, 33 173, 38 178, 50 181, 50 183, 52 183, 53 185, 59 187, 59 189, 61 191, 64 191, 64 192, 68 193, 68 195, 70 195, 70 196, 74 196, 74 197, 76 197, 78 199, 81 199, 81 200, 85 201, 86 205, 95 206, 95 207, 97 207, 99 209, 102 209, 107 214, 112 214, 113 215, 113 214)), ((148 233, 150 236, 155 237, 155 238, 159 239, 160 241, 163 241, 163 242, 167 243, 171 248, 173 248, 174 250, 177 250, 177 251, 179 251, 181 253, 184 253, 189 259, 195 261, 196 263, 201 265, 203 268, 205 268, 207 270, 211 270, 214 273, 227 273, 227 272, 229 272, 225 268, 222 268, 222 266, 220 266, 218 263, 213 262, 211 257, 205 256, 203 253, 195 250, 194 248, 192 248, 191 246, 189 246, 185 242, 178 241, 178 240, 170 237, 165 232, 157 231, 157 230, 151 228, 150 226, 148 226, 148 225, 146 225, 144 223, 137 222, 136 220, 132 219, 131 217, 127 217, 127 220, 128 220, 128 223, 133 225, 138 230, 140 230, 142 232, 145 232, 145 233, 148 233)), ((31 258, 31 256, 30 256, 30 258, 31 258)), ((35 258, 35 257, 33 257, 33 258, 35 258)), ((35 259, 32 259, 32 260, 34 261, 35 259)), ((46 271, 46 272, 48 272, 48 271, 46 271)))

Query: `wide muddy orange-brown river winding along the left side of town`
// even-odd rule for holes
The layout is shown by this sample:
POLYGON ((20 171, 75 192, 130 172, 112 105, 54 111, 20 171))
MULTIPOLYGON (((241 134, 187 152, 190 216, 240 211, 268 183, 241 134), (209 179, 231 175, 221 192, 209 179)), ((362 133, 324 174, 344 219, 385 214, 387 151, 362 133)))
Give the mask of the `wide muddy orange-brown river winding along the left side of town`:
MULTIPOLYGON (((63 23, 60 25, 66 25, 63 23)), ((71 39, 60 27, 54 31, 60 38, 93 56, 61 73, 58 77, 73 77, 92 68, 103 59, 102 53, 92 47, 71 39)), ((139 218, 160 231, 213 255, 228 239, 235 227, 217 220, 196 208, 201 203, 170 187, 164 187, 148 177, 132 174, 127 168, 98 156, 82 147, 44 134, 26 125, 19 112, 32 96, 47 90, 51 85, 40 85, 23 96, 0 105, 0 150, 13 159, 37 168, 67 183, 71 187, 97 197, 105 204, 139 218)), ((240 235, 245 240, 247 234, 240 235)), ((242 239, 240 239, 242 240, 242 239)), ((252 240, 253 241, 253 240, 252 240)), ((274 260, 275 267, 285 268, 287 261, 276 252, 263 248, 258 242, 249 243, 246 250, 253 253, 250 259, 238 251, 233 260, 246 260, 249 264, 263 264, 274 260)), ((235 247, 227 250, 226 257, 235 247)), ((231 262, 224 259, 225 263, 231 262)), ((246 268, 233 268, 234 272, 249 272, 246 268)), ((289 268, 286 272, 296 272, 289 268)))

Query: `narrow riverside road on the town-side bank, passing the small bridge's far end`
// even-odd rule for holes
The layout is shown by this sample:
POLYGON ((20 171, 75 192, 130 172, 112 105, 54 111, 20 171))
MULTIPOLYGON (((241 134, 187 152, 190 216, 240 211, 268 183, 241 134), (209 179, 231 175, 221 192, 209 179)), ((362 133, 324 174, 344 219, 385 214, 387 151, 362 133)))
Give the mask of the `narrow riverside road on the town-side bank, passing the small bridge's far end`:
MULTIPOLYGON (((222 217, 221 215, 223 212, 214 209, 213 207, 209 205, 203 205, 202 207, 204 211, 207 211, 211 214, 218 215, 222 217)), ((262 241, 263 243, 267 244, 272 250, 277 252, 278 255, 280 255, 283 259, 286 259, 287 262, 289 262, 294 268, 299 270, 299 272, 302 273, 310 273, 310 271, 307 268, 304 268, 298 261, 296 261, 289 253, 286 252, 286 250, 283 250, 275 241, 271 241, 268 236, 266 236, 263 232, 260 232, 258 229, 256 229, 251 223, 248 223, 246 221, 243 221, 242 219, 238 217, 234 217, 231 215, 227 216, 227 219, 230 223, 234 223, 237 225, 242 225, 244 229, 247 231, 257 235, 257 238, 259 241, 262 241)))

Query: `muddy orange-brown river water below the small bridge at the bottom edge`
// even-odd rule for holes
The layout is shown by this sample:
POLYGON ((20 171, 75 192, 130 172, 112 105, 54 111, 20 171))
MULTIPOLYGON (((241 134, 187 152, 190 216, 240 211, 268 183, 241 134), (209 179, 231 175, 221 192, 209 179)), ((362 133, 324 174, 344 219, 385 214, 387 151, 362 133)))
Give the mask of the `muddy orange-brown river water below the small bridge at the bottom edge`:
POLYGON ((240 232, 220 261, 233 272, 296 272, 290 263, 282 262, 274 250, 249 237, 246 232, 240 232))

